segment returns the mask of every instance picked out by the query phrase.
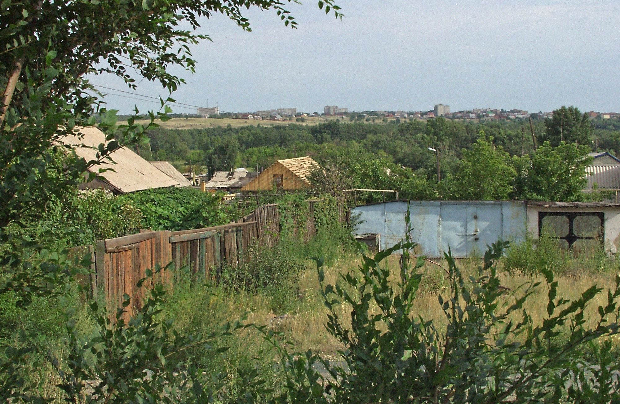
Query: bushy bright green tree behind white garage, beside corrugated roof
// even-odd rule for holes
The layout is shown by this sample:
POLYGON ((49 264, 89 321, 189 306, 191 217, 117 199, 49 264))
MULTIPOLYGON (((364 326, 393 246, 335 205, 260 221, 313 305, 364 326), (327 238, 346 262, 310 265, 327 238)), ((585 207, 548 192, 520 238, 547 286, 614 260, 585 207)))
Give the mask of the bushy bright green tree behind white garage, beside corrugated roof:
POLYGON ((590 148, 574 143, 551 147, 545 142, 533 152, 516 160, 515 198, 535 201, 571 202, 585 200, 585 167, 591 157, 590 148))

